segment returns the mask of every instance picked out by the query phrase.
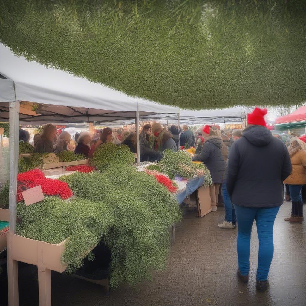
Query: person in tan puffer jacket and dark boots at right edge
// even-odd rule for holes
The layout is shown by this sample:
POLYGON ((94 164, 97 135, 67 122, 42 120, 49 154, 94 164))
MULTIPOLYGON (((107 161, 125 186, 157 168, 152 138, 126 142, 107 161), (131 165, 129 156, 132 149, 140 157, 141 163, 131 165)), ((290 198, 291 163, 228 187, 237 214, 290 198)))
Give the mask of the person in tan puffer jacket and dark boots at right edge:
POLYGON ((285 179, 284 184, 289 185, 292 210, 291 217, 286 218, 285 221, 302 223, 304 217, 301 190, 302 186, 306 184, 306 136, 293 139, 288 150, 292 163, 292 172, 285 179))

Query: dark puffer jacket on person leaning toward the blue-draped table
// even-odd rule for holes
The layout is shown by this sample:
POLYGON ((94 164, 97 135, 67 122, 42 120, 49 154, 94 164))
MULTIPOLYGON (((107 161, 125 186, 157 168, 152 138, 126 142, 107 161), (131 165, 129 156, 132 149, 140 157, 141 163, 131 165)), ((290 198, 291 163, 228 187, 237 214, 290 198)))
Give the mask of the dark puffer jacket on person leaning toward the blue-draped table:
POLYGON ((200 161, 205 164, 211 173, 211 179, 214 184, 222 183, 225 169, 225 162, 223 159, 222 139, 217 136, 210 136, 205 139, 200 154, 196 154, 192 160, 200 161))

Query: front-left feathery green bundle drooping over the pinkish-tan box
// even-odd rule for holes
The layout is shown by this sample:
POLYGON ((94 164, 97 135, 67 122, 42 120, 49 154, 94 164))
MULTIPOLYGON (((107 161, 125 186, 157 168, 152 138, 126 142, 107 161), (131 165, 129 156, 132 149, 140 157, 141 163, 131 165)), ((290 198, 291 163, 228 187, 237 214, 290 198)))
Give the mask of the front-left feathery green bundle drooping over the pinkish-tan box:
POLYGON ((82 266, 85 253, 106 237, 115 223, 113 209, 106 203, 80 198, 65 202, 54 196, 29 206, 18 203, 17 216, 22 220, 17 224, 18 235, 53 244, 69 237, 62 257, 68 272, 82 266))

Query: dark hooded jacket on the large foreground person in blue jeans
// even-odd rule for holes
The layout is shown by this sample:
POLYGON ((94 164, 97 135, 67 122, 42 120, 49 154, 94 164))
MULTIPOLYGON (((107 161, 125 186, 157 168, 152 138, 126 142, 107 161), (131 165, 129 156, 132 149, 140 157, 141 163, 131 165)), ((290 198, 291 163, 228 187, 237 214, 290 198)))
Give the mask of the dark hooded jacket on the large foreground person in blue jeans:
POLYGON ((233 204, 276 207, 283 203, 282 181, 291 160, 282 140, 261 125, 251 125, 230 151, 226 188, 233 204))

